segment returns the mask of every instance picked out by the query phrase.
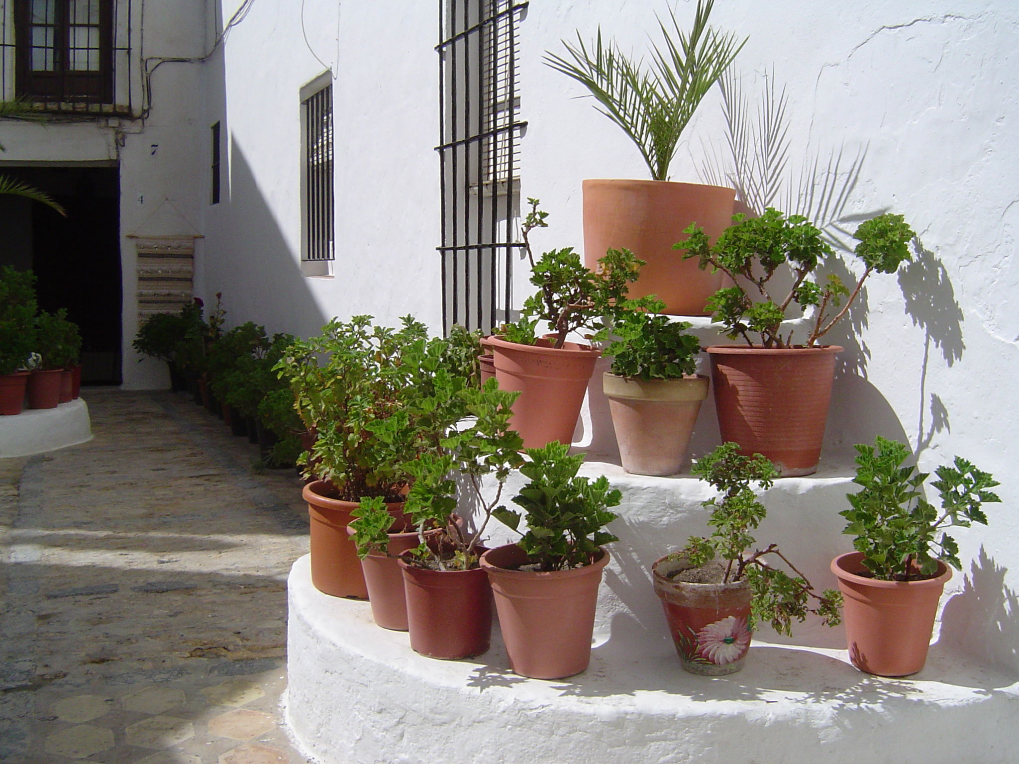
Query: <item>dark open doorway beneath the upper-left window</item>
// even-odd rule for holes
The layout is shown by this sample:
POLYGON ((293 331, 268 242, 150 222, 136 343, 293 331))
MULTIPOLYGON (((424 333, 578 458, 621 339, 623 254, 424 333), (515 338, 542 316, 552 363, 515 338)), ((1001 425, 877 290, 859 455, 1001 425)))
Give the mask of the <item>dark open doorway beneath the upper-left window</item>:
POLYGON ((39 307, 67 309, 82 329, 83 384, 121 382, 119 200, 115 167, 0 167, 49 194, 61 217, 36 202, 0 196, 0 265, 36 272, 39 307))

